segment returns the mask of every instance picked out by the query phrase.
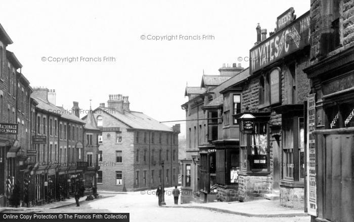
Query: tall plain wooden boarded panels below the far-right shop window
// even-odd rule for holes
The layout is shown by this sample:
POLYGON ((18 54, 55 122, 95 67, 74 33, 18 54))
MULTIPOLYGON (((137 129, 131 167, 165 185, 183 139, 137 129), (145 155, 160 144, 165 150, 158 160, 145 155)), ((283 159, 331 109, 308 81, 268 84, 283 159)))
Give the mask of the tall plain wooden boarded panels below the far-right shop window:
POLYGON ((323 215, 335 222, 352 222, 353 207, 353 135, 325 136, 322 167, 324 170, 323 215))

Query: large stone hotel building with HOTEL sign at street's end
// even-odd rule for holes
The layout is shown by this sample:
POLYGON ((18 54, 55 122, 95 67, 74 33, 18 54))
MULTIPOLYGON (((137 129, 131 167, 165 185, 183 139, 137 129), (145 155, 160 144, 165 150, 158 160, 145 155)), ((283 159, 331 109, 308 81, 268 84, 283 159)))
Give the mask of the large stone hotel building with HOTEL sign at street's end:
POLYGON ((169 128, 130 110, 128 96, 120 94, 109 95, 107 107, 100 103, 93 115, 101 131, 99 190, 137 191, 178 184, 179 125, 169 128))

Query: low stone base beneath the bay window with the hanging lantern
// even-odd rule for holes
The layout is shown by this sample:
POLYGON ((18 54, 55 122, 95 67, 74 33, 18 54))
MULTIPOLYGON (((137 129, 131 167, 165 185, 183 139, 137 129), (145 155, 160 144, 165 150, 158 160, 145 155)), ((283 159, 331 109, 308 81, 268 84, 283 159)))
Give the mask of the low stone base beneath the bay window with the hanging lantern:
POLYGON ((246 176, 239 175, 239 201, 249 201, 262 198, 264 194, 272 191, 271 176, 246 176))

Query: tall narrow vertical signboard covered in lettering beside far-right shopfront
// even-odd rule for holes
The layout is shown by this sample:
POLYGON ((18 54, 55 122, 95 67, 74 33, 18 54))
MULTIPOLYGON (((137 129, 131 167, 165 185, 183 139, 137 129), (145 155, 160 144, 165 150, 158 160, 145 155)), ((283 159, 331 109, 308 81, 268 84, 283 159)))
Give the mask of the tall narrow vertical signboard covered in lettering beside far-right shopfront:
POLYGON ((315 130, 315 94, 307 96, 307 212, 310 215, 317 216, 317 196, 316 196, 316 149, 315 149, 315 135, 312 131, 315 130))

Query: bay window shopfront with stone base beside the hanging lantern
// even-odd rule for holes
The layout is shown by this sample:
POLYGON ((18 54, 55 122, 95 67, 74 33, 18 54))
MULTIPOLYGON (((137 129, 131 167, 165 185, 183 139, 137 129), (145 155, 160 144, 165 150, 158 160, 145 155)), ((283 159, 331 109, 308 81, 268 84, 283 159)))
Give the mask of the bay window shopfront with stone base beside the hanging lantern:
POLYGON ((270 113, 241 113, 239 201, 248 201, 271 193, 269 150, 270 113))

